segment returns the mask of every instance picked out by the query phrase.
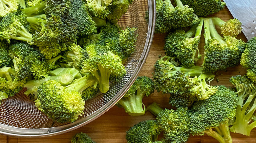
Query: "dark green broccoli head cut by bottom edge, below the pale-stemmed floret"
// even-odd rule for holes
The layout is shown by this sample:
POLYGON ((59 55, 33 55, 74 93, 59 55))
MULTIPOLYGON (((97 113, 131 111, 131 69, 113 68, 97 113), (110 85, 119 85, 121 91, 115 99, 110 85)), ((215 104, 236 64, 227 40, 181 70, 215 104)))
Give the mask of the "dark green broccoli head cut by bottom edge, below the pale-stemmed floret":
POLYGON ((153 143, 160 134, 156 120, 145 120, 134 125, 126 132, 128 143, 153 143))

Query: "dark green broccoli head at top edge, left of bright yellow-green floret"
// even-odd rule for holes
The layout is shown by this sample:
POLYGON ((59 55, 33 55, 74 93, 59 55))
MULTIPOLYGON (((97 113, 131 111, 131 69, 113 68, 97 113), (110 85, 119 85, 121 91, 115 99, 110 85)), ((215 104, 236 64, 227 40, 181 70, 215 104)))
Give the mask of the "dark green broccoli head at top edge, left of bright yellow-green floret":
POLYGON ((72 0, 72 8, 69 14, 77 25, 78 35, 91 35, 97 32, 96 23, 93 21, 84 1, 72 0))

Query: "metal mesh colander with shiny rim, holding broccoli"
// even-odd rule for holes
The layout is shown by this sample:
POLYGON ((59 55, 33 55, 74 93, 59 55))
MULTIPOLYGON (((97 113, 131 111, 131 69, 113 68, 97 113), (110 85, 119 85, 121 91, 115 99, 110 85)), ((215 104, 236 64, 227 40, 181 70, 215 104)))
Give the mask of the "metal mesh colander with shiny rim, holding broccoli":
POLYGON ((16 137, 42 137, 58 135, 79 128, 110 109, 126 93, 142 69, 155 30, 155 1, 135 0, 128 11, 119 19, 122 28, 138 27, 136 52, 126 61, 126 76, 111 86, 106 94, 99 93, 86 101, 83 116, 73 123, 57 123, 39 111, 23 89, 14 97, 5 99, 0 106, 0 134, 16 137), (149 13, 149 22, 145 21, 145 12, 149 13))

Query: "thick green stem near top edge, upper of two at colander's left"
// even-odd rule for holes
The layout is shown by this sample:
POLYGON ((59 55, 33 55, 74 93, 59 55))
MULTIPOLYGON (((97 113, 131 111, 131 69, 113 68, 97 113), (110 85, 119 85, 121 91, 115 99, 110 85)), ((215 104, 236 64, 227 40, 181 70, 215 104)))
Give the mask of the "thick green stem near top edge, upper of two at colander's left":
MULTIPOLYGON (((29 8, 25 8, 24 12, 27 14, 27 16, 29 17, 40 17, 41 14, 44 14, 44 8, 46 8, 46 1, 43 1, 41 3, 39 3, 38 5, 29 7, 29 8)), ((41 18, 41 17, 40 17, 41 18)), ((45 17, 46 18, 46 17, 45 17)))

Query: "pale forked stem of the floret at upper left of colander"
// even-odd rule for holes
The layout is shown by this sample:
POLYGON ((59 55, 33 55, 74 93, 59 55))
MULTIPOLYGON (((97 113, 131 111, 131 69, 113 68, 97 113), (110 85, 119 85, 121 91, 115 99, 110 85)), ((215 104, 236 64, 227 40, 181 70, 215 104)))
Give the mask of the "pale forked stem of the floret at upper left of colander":
POLYGON ((32 34, 30 34, 26 28, 20 24, 21 26, 19 28, 16 28, 17 35, 19 36, 14 36, 11 34, 8 34, 10 36, 11 39, 15 39, 15 40, 21 40, 21 41, 26 41, 30 44, 32 44, 32 34))

